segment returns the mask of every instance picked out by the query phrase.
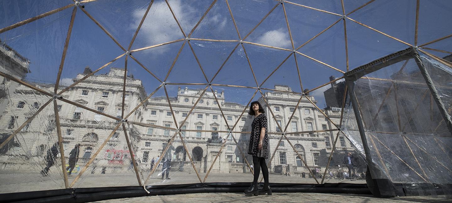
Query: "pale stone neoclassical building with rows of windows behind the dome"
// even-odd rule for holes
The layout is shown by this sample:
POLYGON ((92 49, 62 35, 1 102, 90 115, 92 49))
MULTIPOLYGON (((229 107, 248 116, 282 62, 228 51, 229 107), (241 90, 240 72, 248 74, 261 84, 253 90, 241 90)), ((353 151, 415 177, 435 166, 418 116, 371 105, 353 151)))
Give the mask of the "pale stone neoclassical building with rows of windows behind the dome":
MULTIPOLYGON (((19 65, 21 67, 28 67, 22 66, 22 64, 16 64, 15 66, 19 65)), ((73 81, 80 80, 89 73, 91 73, 91 70, 87 67, 73 81)), ((108 73, 90 76, 61 94, 61 96, 64 99, 71 100, 91 109, 121 117, 123 76, 123 69, 110 68, 108 73)), ((49 99, 52 99, 12 81, 7 81, 6 83, 2 83, 2 85, 5 88, 5 84, 9 83, 15 84, 14 91, 9 90, 9 92, 0 98, 1 104, 5 106, 2 117, 0 118, 2 140, 5 140, 6 137, 30 118, 49 99)), ((54 84, 39 85, 40 88, 53 91, 54 84)), ((63 90, 64 88, 66 86, 59 86, 59 90, 63 90)), ((177 132, 173 129, 178 128, 182 130, 180 137, 184 139, 186 146, 184 147, 177 134, 172 144, 174 146, 174 149, 172 149, 172 153, 174 154, 172 165, 179 167, 173 167, 172 170, 192 170, 189 164, 188 154, 184 153, 186 151, 185 148, 189 151, 189 155, 196 163, 199 172, 209 170, 217 154, 219 154, 219 157, 212 166, 211 172, 237 173, 248 170, 242 153, 240 153, 242 151, 251 164, 252 158, 246 154, 247 141, 249 139, 248 132, 250 132, 253 119, 247 113, 248 107, 244 104, 231 102, 233 99, 229 98, 235 96, 233 93, 229 95, 225 91, 212 92, 206 90, 201 95, 204 89, 202 86, 199 86, 199 88, 193 88, 193 86, 190 88, 179 87, 176 94, 168 95, 169 101, 166 96, 151 97, 128 118, 131 122, 127 123, 127 135, 130 137, 133 154, 137 158, 141 171, 150 170, 152 158, 157 158, 157 156, 161 155, 166 141, 177 132), (201 99, 199 99, 198 104, 188 114, 199 97, 201 99), (217 101, 219 104, 217 104, 217 101), (171 104, 175 119, 173 118, 169 104, 171 104), (221 111, 225 116, 224 118, 218 106, 221 106, 221 111), (245 113, 240 116, 244 109, 246 109, 245 113), (181 125, 184 120, 186 122, 181 125), (132 121, 138 124, 132 123, 132 121), (153 124, 161 127, 145 127, 145 125, 140 125, 139 123, 153 124), (237 124, 235 125, 235 123, 237 124), (230 128, 234 125, 235 128, 232 129, 231 134, 235 137, 235 141, 231 136, 228 136, 230 134, 230 128), (223 143, 224 148, 220 150, 223 143)), ((332 150, 334 137, 337 133, 337 131, 328 130, 335 129, 334 125, 306 98, 303 98, 300 105, 296 108, 300 94, 291 93, 292 90, 289 86, 275 85, 274 89, 276 91, 264 92, 263 97, 255 97, 258 98, 255 100, 258 100, 264 105, 268 117, 271 155, 273 155, 273 151, 277 148, 282 130, 288 125, 286 136, 298 153, 303 156, 306 164, 313 167, 325 167, 332 150), (264 99, 268 102, 268 105, 264 99), (275 119, 273 119, 270 109, 274 113, 275 119), (295 114, 289 121, 294 111, 295 114), (282 130, 278 128, 276 122, 282 126, 282 130)), ((125 114, 131 112, 146 97, 147 94, 142 85, 142 81, 127 75, 125 114)), ((308 97, 316 103, 313 96, 308 95, 308 97)), ((118 125, 118 121, 115 119, 62 101, 58 101, 57 108, 60 116, 65 155, 69 154, 75 144, 80 143, 81 162, 78 163, 79 165, 83 165, 83 163, 86 163, 91 158, 94 151, 99 149, 99 146, 110 135, 114 127, 118 125)), ((339 123, 339 108, 330 108, 330 110, 322 109, 321 111, 328 115, 335 123, 339 123)), ((45 151, 56 140, 56 122, 53 105, 50 103, 32 122, 28 123, 18 133, 13 142, 10 142, 4 147, 4 150, 0 154, 0 163, 4 165, 5 170, 14 170, 18 167, 24 170, 27 168, 24 165, 29 164, 23 161, 23 157, 33 159, 36 162, 42 162, 43 156, 46 154, 45 151)), ((342 136, 339 137, 336 146, 338 147, 338 151, 353 151, 350 142, 346 141, 342 136)), ((331 163, 332 165, 341 164, 334 163, 334 161, 340 162, 342 160, 342 156, 338 157, 334 158, 331 163)), ((90 166, 90 169, 98 170, 101 167, 108 167, 111 170, 107 171, 111 172, 127 169, 130 163, 129 149, 124 133, 122 132, 122 127, 120 127, 113 134, 113 137, 108 140, 101 153, 96 157, 93 166, 90 166)), ((277 170, 282 165, 291 165, 297 171, 306 170, 303 167, 306 165, 297 156, 295 151, 293 151, 292 146, 290 146, 285 138, 280 142, 270 166, 272 170, 277 170)))

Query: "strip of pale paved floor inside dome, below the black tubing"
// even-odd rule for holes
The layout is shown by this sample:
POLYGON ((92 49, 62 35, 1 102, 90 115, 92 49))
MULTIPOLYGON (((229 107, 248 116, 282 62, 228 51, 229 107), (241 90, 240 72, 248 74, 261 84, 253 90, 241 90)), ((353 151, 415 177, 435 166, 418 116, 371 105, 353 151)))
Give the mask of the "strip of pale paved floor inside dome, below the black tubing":
POLYGON ((139 198, 122 198, 98 201, 95 203, 451 203, 443 195, 411 196, 395 198, 374 198, 372 195, 357 194, 324 194, 324 193, 273 193, 273 195, 259 195, 257 197, 245 197, 239 193, 198 193, 149 196, 139 198))

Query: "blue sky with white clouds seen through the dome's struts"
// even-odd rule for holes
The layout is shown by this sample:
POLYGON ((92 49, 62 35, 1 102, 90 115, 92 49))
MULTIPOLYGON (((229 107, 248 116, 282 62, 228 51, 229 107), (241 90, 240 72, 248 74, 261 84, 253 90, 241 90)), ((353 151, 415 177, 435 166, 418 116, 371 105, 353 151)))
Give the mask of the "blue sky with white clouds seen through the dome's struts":
MULTIPOLYGON (((111 1, 98 0, 85 4, 85 9, 127 49, 149 2, 150 0, 122 0, 112 3, 111 1)), ((190 33, 193 26, 211 4, 211 1, 208 0, 169 0, 169 2, 186 34, 190 33)), ((342 14, 340 0, 293 0, 292 2, 342 14)), ((346 13, 365 2, 367 0, 344 0, 346 13)), ((71 3, 71 0, 42 0, 39 3, 28 0, 2 1, 0 2, 3 8, 0 9, 0 19, 3 20, 0 20, 0 27, 71 3)), ((244 38, 278 2, 273 0, 231 0, 229 3, 240 36, 244 38)), ((300 46, 341 18, 337 15, 289 3, 285 3, 284 6, 295 47, 300 46)), ((348 17, 405 42, 414 43, 415 8, 416 3, 413 0, 381 0, 372 2, 348 17)), ((452 10, 451 1, 421 0, 419 44, 452 33, 452 23, 449 20, 452 19, 450 10, 452 10)), ((31 61, 30 69, 32 73, 27 76, 27 80, 55 82, 71 13, 72 8, 69 8, 0 34, 2 41, 31 61)), ((346 20, 346 26, 350 70, 408 47, 351 20, 346 20)), ((152 46, 180 38, 184 38, 184 36, 165 1, 155 0, 131 49, 152 46)), ((240 40, 225 1, 218 0, 190 38, 240 40)), ((272 14, 245 41, 292 50, 282 5, 278 5, 272 14)), ((135 52, 133 56, 161 80, 164 80, 183 43, 184 41, 176 42, 135 52)), ((237 42, 197 40, 191 40, 190 43, 209 79, 215 75, 237 44, 237 42)), ((246 43, 244 47, 259 85, 291 53, 246 43)), ((436 42, 428 47, 452 51, 450 50, 452 39, 436 42)), ((339 21, 298 51, 346 71, 343 22, 339 21)), ((74 78, 77 73, 83 72, 85 66, 95 70, 122 53, 123 51, 99 27, 78 9, 61 76, 62 82, 70 84, 71 78, 74 78)), ((432 53, 439 57, 445 56, 444 53, 440 52, 432 53)), ((343 75, 339 71, 299 54, 297 54, 297 62, 304 89, 312 89, 322 85, 329 81, 330 76, 340 77, 343 75)), ((124 59, 119 59, 111 66, 123 67, 124 59)), ((148 93, 160 85, 160 82, 130 58, 128 69, 135 78, 143 80, 143 85, 148 93)), ((107 71, 108 67, 100 73, 107 71)), ((264 83, 263 87, 273 88, 274 84, 282 84, 291 86, 294 91, 301 91, 297 80, 295 58, 291 56, 264 83)), ((167 82, 206 82, 188 44, 185 44, 182 49, 167 82)), ((257 86, 246 60, 244 49, 241 46, 237 47, 212 83, 257 86)), ((327 87, 311 94, 319 100, 318 106, 320 108, 325 107, 323 91, 327 87)), ((199 88, 203 87, 199 86, 199 88)), ((177 87, 168 87, 168 90, 170 91, 169 94, 174 95, 177 87)), ((225 93, 229 101, 239 103, 243 101, 246 103, 251 96, 249 90, 240 88, 225 89, 225 93)))

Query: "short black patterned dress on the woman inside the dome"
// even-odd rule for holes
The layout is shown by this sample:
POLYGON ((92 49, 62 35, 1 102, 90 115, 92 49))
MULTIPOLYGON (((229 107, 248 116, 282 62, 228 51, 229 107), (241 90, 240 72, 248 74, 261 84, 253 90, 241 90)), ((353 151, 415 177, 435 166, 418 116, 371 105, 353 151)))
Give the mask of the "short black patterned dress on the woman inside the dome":
POLYGON ((251 136, 250 136, 250 144, 248 146, 248 154, 264 157, 268 159, 268 135, 267 135, 267 117, 264 113, 259 114, 254 118, 253 123, 251 123, 251 136), (259 137, 260 130, 262 127, 265 127, 265 136, 264 140, 262 140, 262 150, 259 150, 259 137))

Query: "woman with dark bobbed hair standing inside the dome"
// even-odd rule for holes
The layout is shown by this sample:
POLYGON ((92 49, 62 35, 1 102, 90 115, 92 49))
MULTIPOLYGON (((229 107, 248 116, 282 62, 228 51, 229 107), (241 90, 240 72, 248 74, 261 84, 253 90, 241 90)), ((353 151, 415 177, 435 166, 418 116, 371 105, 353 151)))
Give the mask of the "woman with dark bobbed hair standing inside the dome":
POLYGON ((268 185, 268 168, 265 159, 268 159, 268 135, 267 135, 267 117, 265 111, 258 101, 251 102, 250 115, 255 116, 251 124, 250 145, 248 154, 253 156, 254 179, 249 189, 245 190, 246 196, 257 196, 258 194, 272 195, 272 190, 268 185), (258 188, 259 173, 262 170, 264 176, 264 188, 258 188))

